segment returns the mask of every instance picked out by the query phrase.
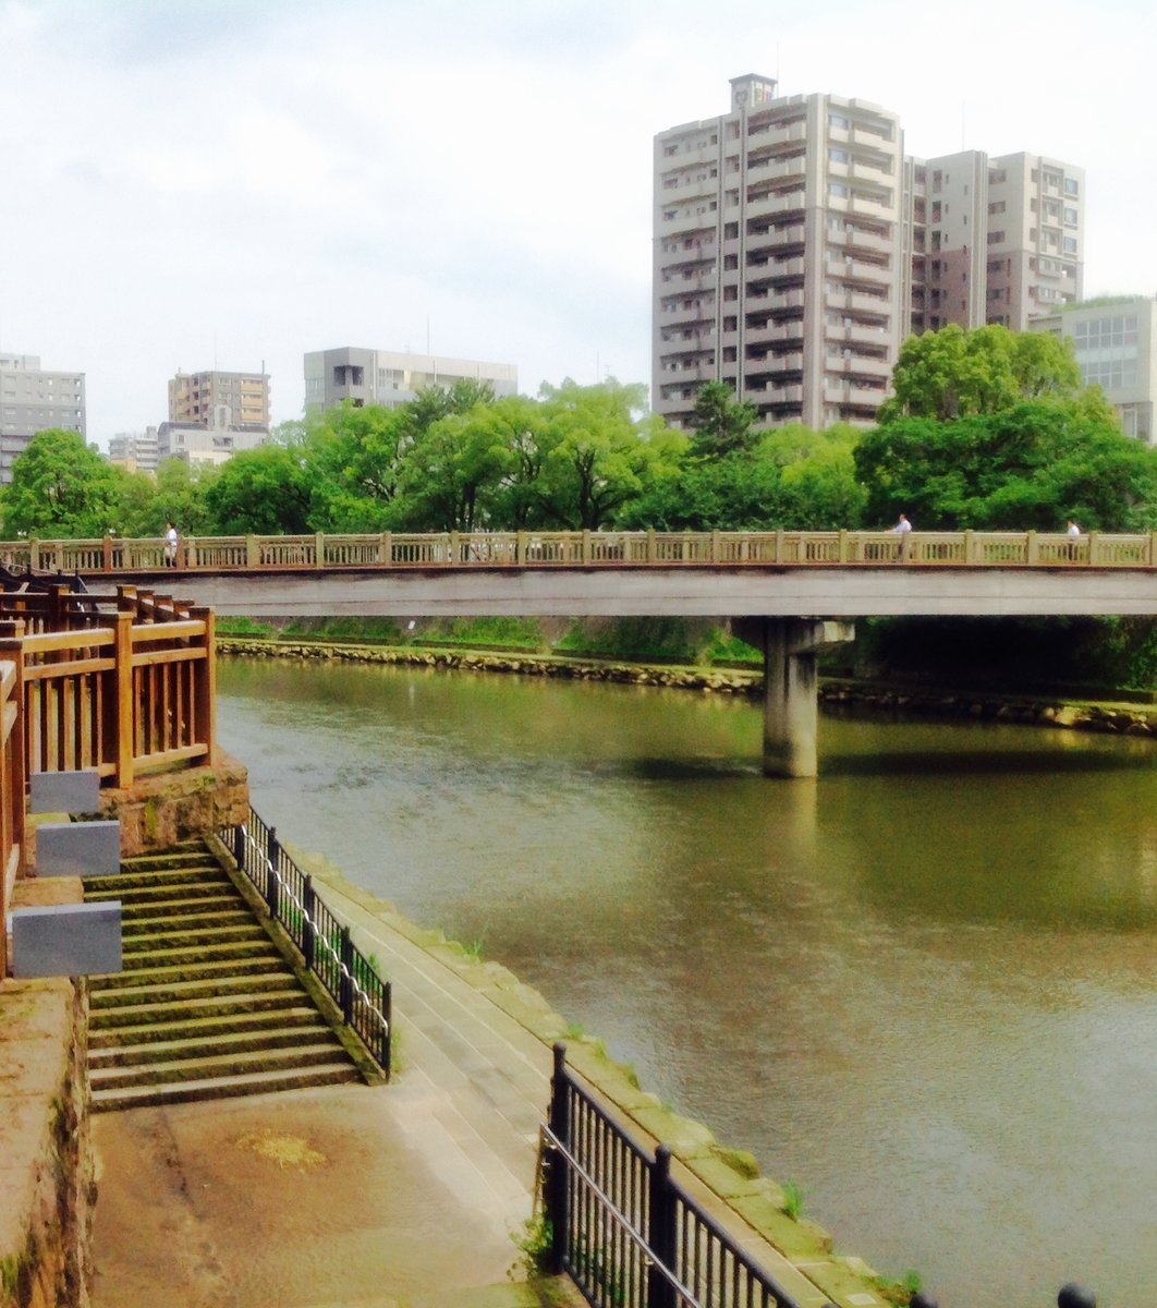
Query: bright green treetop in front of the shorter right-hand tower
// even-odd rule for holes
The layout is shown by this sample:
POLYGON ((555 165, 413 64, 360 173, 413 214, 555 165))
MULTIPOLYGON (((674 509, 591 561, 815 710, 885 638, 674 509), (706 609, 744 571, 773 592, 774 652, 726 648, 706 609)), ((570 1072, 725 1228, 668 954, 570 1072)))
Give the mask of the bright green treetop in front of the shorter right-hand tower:
POLYGON ((1072 399, 1081 374, 1072 341, 1046 332, 1011 332, 990 324, 965 331, 956 323, 909 336, 892 371, 893 395, 877 419, 949 421, 999 413, 1026 399, 1072 399))

